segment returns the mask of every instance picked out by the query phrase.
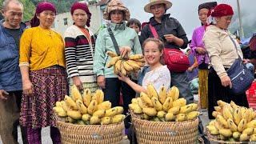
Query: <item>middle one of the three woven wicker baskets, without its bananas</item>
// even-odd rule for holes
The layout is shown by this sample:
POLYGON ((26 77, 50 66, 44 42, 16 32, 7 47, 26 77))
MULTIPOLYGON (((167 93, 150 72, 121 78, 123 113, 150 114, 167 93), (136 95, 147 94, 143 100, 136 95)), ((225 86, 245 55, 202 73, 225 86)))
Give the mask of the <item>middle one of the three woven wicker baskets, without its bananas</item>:
POLYGON ((131 115, 140 144, 191 144, 198 140, 198 118, 186 122, 150 122, 131 115))

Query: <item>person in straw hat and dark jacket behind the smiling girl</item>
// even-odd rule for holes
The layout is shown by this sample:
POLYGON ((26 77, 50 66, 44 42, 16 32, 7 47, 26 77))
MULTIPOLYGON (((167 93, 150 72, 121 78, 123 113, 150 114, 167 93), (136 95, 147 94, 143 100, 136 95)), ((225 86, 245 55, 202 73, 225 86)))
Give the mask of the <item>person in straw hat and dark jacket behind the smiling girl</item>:
MULTIPOLYGON (((170 18, 170 14, 166 14, 166 10, 170 9, 172 3, 167 0, 150 0, 146 4, 144 10, 153 14, 148 25, 144 26, 141 33, 142 42, 146 38, 154 38, 154 34, 150 27, 154 27, 158 37, 165 43, 166 49, 185 49, 188 44, 186 33, 182 25, 175 18, 170 18)), ((170 72, 172 86, 177 86, 180 90, 180 97, 186 98, 188 103, 193 102, 194 98, 189 89, 188 78, 186 72, 176 73, 170 72)))

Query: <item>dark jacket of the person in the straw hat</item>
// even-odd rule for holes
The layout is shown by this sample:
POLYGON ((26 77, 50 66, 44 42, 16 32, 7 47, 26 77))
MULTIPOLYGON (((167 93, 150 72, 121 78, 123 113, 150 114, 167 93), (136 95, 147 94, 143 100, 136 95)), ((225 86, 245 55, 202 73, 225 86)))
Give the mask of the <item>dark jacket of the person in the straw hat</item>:
MULTIPOLYGON (((157 30, 159 38, 163 38, 163 35, 165 34, 174 34, 174 36, 182 38, 182 40, 184 41, 184 44, 182 46, 177 46, 174 42, 165 42, 166 48, 186 49, 186 46, 188 44, 186 33, 177 19, 170 18, 170 14, 164 14, 162 16, 162 23, 158 23, 154 19, 154 17, 152 17, 150 18, 150 24, 154 26, 155 30, 157 30)), ((149 25, 144 26, 142 29, 142 43, 146 40, 146 38, 154 38, 154 35, 152 34, 149 25)))

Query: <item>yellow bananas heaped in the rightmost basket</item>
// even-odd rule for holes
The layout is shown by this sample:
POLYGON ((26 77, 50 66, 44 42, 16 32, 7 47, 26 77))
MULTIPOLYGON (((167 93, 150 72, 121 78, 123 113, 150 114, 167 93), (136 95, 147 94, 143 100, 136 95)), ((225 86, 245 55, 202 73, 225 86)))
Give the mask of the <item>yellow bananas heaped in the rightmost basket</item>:
POLYGON ((214 106, 215 119, 206 128, 212 135, 218 135, 223 141, 256 141, 256 113, 253 109, 238 106, 234 102, 221 100, 214 106))

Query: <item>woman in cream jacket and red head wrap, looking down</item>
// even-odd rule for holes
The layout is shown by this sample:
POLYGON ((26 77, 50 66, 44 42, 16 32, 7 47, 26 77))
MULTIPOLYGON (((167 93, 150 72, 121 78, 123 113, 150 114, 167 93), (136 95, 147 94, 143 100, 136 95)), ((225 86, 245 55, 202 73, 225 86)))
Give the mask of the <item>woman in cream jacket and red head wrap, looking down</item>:
POLYGON ((248 107, 246 92, 232 94, 232 82, 226 70, 234 63, 235 59, 243 58, 242 50, 233 34, 227 30, 234 11, 230 5, 219 4, 211 13, 214 24, 207 26, 203 42, 210 58, 210 72, 208 75, 208 116, 213 119, 212 112, 217 101, 235 102, 238 106, 248 107))

